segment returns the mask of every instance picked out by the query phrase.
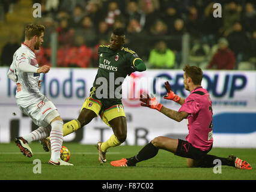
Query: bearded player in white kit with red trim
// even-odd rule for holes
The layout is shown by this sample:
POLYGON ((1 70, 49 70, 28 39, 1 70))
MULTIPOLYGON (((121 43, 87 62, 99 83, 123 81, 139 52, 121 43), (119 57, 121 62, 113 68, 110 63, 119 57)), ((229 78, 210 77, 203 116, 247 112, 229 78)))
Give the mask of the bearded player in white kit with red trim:
POLYGON ((26 157, 32 157, 29 143, 50 136, 51 157, 49 164, 73 165, 62 161, 60 151, 63 140, 63 121, 56 107, 40 92, 40 73, 48 73, 50 67, 38 67, 34 50, 43 43, 44 26, 29 24, 25 27, 25 41, 13 55, 13 62, 8 71, 8 78, 16 82, 16 103, 25 115, 38 125, 37 130, 26 136, 16 137, 15 143, 26 157))

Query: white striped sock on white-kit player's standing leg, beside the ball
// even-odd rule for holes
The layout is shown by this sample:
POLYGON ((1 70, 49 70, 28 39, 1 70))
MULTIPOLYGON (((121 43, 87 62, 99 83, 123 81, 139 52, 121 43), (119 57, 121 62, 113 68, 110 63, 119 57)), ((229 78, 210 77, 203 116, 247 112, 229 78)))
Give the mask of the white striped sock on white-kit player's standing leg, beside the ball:
POLYGON ((50 148, 52 151, 51 159, 53 161, 58 160, 61 147, 62 147, 62 141, 63 141, 63 121, 56 120, 53 121, 52 124, 52 131, 50 131, 50 148))

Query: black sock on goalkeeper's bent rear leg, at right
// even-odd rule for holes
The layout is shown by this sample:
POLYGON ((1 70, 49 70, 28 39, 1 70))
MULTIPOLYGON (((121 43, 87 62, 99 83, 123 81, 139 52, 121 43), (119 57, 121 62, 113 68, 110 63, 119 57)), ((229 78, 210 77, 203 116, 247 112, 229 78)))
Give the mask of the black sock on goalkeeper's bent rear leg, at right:
POLYGON ((221 160, 222 166, 231 166, 234 167, 234 161, 228 160, 228 158, 217 157, 215 155, 206 155, 198 163, 199 167, 214 167, 216 164, 213 163, 214 160, 221 160))

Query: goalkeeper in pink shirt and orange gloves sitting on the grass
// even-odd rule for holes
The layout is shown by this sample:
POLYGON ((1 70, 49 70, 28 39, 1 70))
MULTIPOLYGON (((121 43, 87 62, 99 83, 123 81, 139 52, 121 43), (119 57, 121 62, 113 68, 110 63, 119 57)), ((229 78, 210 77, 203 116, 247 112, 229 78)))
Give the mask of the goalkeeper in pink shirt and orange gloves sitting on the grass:
POLYGON ((216 157, 207 154, 213 145, 213 125, 212 125, 212 101, 210 95, 201 86, 203 71, 201 68, 188 65, 183 68, 184 88, 190 91, 186 98, 180 98, 171 90, 169 82, 165 82, 167 94, 163 97, 166 100, 173 100, 181 105, 180 110, 175 111, 167 109, 156 101, 156 97, 149 97, 147 94, 141 95, 141 106, 156 109, 164 115, 175 121, 188 120, 189 134, 186 140, 171 139, 169 137, 156 137, 150 143, 144 146, 137 155, 131 158, 122 158, 121 160, 111 161, 112 166, 127 167, 136 166, 144 160, 156 156, 159 149, 172 152, 180 157, 187 158, 188 167, 213 167, 214 160, 221 160, 223 166, 233 166, 238 169, 252 169, 250 164, 234 155, 228 158, 216 157))

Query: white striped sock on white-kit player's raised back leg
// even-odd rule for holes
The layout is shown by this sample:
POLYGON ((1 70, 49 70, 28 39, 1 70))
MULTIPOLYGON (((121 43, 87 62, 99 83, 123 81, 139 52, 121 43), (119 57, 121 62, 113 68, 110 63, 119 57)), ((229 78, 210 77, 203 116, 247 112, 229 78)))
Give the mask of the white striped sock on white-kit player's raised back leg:
POLYGON ((31 133, 23 137, 28 143, 34 142, 35 140, 44 139, 50 135, 50 125, 47 127, 39 127, 31 133))

